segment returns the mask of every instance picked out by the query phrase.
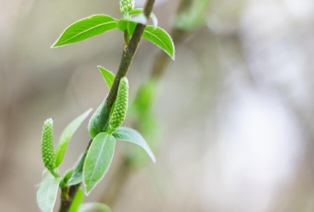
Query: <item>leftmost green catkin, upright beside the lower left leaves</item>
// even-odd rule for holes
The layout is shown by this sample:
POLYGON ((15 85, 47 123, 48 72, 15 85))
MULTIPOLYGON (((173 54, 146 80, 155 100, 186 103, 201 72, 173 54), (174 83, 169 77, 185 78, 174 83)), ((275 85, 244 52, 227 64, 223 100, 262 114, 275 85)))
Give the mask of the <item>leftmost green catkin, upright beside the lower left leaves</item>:
POLYGON ((45 167, 53 172, 56 168, 55 154, 53 149, 53 121, 48 119, 45 121, 42 136, 42 156, 45 167))

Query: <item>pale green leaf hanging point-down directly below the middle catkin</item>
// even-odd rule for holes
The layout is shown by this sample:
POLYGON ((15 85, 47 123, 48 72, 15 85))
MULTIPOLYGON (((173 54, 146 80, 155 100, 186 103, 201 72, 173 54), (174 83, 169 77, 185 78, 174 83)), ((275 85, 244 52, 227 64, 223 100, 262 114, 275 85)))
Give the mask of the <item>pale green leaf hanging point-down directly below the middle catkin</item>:
POLYGON ((107 133, 99 133, 93 140, 83 167, 84 184, 86 194, 106 174, 114 153, 115 139, 107 133))

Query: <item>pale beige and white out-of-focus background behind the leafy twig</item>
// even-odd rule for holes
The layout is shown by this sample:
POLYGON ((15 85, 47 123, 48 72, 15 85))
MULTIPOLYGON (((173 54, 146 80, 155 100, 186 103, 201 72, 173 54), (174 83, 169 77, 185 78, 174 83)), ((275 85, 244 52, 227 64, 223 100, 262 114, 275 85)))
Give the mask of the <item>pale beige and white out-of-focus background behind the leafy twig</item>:
MULTIPOLYGON (((314 2, 194 0, 176 15, 180 4, 156 0, 154 8, 161 28, 180 32, 150 111, 154 135, 143 132, 158 143, 157 163, 145 156, 125 174, 121 161, 137 147, 117 142, 85 201, 108 203, 117 193, 113 211, 314 211, 314 2)), ((96 66, 116 72, 121 32, 50 49, 67 26, 93 14, 121 17, 118 1, 0 2, 0 211, 39 211, 44 121, 54 119, 56 146, 65 126, 108 92, 96 66)), ((159 52, 141 42, 130 99, 159 52)), ((124 126, 133 123, 130 110, 124 126)), ((61 173, 85 150, 87 124, 71 139, 61 173)))

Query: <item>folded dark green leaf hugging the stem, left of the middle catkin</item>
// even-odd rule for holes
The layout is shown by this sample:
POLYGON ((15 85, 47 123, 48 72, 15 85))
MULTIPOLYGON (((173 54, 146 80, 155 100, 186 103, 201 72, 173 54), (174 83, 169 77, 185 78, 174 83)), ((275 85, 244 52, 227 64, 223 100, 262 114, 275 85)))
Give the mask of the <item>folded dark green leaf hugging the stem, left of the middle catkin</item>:
POLYGON ((88 123, 89 135, 92 138, 95 138, 99 133, 106 131, 109 126, 109 114, 105 98, 88 123))

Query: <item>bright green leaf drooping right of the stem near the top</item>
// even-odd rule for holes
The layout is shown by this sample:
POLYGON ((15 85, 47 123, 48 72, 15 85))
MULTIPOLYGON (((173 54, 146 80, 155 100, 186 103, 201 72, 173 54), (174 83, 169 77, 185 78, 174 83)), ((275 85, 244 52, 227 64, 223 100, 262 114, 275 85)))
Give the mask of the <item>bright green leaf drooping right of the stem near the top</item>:
POLYGON ((153 26, 147 26, 143 33, 143 38, 152 42, 163 49, 171 58, 175 59, 175 46, 170 35, 161 28, 154 29, 153 26))

